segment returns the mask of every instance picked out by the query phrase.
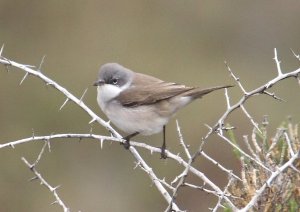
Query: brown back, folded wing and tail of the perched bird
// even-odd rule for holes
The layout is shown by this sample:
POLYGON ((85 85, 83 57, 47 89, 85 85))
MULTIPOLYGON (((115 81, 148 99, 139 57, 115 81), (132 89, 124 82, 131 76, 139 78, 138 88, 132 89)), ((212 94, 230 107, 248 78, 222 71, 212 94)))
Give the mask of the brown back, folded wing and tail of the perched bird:
POLYGON ((177 83, 164 82, 155 77, 140 73, 136 73, 135 77, 138 77, 139 80, 134 80, 134 82, 139 83, 133 83, 131 88, 121 92, 116 98, 123 106, 136 107, 149 105, 175 96, 187 96, 196 99, 201 98, 214 90, 232 87, 227 85, 200 89, 197 87, 187 87, 177 83))

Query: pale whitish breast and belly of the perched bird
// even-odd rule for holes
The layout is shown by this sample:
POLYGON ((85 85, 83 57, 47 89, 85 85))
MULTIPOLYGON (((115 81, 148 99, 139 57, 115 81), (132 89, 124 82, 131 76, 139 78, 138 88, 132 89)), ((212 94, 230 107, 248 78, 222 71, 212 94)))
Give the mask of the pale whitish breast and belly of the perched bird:
POLYGON ((123 107, 117 102, 110 102, 102 108, 103 112, 122 131, 142 135, 159 133, 169 121, 155 112, 153 106, 123 107))

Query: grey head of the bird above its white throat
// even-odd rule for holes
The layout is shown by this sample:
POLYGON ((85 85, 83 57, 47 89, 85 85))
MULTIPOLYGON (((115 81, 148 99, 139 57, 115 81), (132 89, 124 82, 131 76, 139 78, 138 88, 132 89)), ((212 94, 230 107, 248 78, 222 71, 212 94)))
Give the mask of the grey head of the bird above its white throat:
POLYGON ((106 63, 100 67, 95 86, 102 86, 105 84, 122 87, 130 84, 133 79, 133 72, 118 63, 106 63))

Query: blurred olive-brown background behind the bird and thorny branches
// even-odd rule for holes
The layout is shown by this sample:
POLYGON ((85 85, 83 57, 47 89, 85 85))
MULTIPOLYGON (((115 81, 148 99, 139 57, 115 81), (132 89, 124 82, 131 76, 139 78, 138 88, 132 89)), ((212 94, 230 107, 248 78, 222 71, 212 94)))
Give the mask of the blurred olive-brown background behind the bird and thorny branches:
MULTIPOLYGON (((289 48, 299 53, 299 1, 21 1, 0 0, 0 44, 4 56, 20 63, 37 65, 46 55, 42 71, 80 97, 88 87, 85 103, 101 117, 96 89, 91 86, 98 68, 118 62, 138 72, 161 79, 201 87, 233 84, 226 60, 246 89, 254 89, 276 76, 272 58, 278 49, 283 71, 295 70, 299 62, 289 48)), ((65 98, 24 72, 0 67, 0 142, 32 134, 88 133, 90 118, 65 98)), ((272 88, 286 100, 267 96, 252 98, 246 108, 257 122, 269 115, 271 135, 291 115, 300 120, 300 90, 294 79, 272 88)), ((240 98, 236 86, 230 89, 232 103, 240 98)), ((192 152, 225 109, 219 91, 180 111, 177 119, 192 152)), ((228 120, 237 126, 236 137, 250 134, 249 120, 236 111, 228 120)), ((93 132, 108 135, 101 126, 93 132)), ((161 145, 162 135, 135 140, 161 145)), ((175 121, 167 128, 168 147, 179 147, 175 121)), ((0 211, 61 211, 52 194, 37 181, 21 161, 36 158, 42 143, 0 149, 0 211)), ((166 202, 148 176, 133 169, 134 158, 118 144, 105 143, 101 150, 92 140, 53 140, 37 167, 48 182, 62 185, 59 194, 72 211, 163 211, 166 202)), ((229 169, 239 173, 239 163, 224 141, 211 137, 205 151, 229 169)), ((141 151, 158 177, 173 180, 182 171, 171 160, 141 151)), ((182 154, 183 155, 183 154, 182 154)), ((221 188, 226 175, 199 158, 195 166, 221 188)), ((201 181, 188 178, 189 182, 201 181)), ((217 199, 200 191, 181 189, 177 201, 182 209, 206 211, 217 199)))

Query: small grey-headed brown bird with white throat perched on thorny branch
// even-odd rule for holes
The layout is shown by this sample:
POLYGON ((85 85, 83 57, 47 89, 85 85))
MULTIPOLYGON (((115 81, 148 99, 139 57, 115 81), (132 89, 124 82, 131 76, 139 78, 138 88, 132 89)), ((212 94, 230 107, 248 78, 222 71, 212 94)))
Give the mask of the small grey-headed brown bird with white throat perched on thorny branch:
POLYGON ((206 89, 187 87, 133 72, 117 63, 100 67, 97 102, 101 110, 119 129, 128 133, 124 147, 138 134, 152 135, 163 130, 161 157, 166 158, 165 126, 175 113, 195 99, 231 85, 206 89))

